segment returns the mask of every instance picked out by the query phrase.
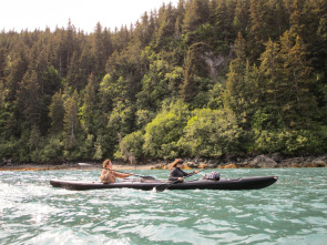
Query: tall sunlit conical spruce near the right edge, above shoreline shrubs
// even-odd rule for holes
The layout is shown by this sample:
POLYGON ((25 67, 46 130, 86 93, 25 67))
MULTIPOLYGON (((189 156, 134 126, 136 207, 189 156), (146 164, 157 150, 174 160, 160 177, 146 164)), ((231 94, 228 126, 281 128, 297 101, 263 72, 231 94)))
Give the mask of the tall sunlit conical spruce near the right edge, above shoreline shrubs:
POLYGON ((306 45, 297 35, 288 31, 280 38, 280 57, 284 62, 286 85, 283 111, 290 126, 309 126, 317 116, 315 96, 310 93, 313 83, 311 67, 307 61, 306 45), (294 39, 295 38, 295 39, 294 39))

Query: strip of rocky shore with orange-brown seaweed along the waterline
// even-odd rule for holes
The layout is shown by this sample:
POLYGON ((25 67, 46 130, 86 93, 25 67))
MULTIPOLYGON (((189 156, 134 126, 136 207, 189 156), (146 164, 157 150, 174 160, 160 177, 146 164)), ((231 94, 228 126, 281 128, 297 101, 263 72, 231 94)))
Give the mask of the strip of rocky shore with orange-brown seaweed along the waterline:
MULTIPOLYGON (((217 160, 184 159, 185 169, 277 169, 277 167, 327 167, 327 154, 319 156, 285 157, 278 153, 257 156, 226 156, 217 160)), ((172 162, 172 161, 171 161, 172 162)), ((151 161, 147 163, 113 161, 115 170, 166 170, 167 161, 151 161)), ((0 163, 0 171, 48 171, 48 170, 101 170, 101 162, 89 163, 0 163)))

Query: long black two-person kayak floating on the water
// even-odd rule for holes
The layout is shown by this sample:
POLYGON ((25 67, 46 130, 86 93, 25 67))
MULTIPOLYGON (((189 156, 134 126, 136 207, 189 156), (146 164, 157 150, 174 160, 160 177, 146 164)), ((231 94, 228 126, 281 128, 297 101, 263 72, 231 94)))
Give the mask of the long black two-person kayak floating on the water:
POLYGON ((143 191, 152 191, 155 188, 164 190, 258 190, 274 184, 278 180, 277 176, 264 177, 239 177, 239 178, 221 178, 219 181, 194 180, 183 183, 171 183, 160 180, 140 180, 130 178, 122 182, 103 184, 101 182, 79 182, 79 181, 59 181, 51 180, 53 187, 61 187, 73 191, 85 191, 95 188, 137 188, 143 191))

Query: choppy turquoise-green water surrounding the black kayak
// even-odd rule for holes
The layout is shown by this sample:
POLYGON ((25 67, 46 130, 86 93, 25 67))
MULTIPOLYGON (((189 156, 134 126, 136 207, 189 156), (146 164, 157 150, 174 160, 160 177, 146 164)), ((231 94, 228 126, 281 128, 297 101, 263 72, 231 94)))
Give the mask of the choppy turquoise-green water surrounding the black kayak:
POLYGON ((257 191, 76 192, 49 180, 100 172, 0 172, 0 244, 326 244, 327 169, 219 172, 279 180, 257 191))

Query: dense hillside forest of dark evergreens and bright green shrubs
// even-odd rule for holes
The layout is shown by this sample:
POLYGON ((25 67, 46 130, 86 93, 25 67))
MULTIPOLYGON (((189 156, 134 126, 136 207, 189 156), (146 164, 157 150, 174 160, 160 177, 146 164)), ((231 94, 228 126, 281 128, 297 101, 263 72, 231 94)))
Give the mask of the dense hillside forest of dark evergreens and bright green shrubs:
POLYGON ((0 33, 1 161, 326 153, 326 0, 180 0, 102 24, 0 33))

